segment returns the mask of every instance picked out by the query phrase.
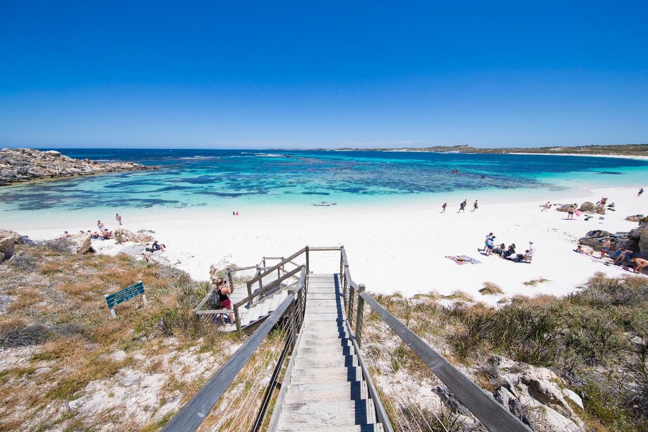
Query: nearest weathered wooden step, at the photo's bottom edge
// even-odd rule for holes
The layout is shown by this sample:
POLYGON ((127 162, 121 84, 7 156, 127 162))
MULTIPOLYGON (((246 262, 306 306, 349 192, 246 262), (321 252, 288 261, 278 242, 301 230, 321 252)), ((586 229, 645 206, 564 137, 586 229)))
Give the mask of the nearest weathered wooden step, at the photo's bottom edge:
POLYGON ((343 427, 375 423, 375 408, 371 399, 284 403, 279 427, 343 427))

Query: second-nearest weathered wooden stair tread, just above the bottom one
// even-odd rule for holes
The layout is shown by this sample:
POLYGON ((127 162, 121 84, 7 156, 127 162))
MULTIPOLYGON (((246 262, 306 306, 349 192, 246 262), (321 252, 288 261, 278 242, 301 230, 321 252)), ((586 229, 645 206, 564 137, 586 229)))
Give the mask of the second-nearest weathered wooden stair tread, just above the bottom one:
POLYGON ((365 381, 337 384, 289 384, 285 402, 323 402, 325 400, 358 400, 368 398, 369 390, 367 390, 367 383, 365 381))

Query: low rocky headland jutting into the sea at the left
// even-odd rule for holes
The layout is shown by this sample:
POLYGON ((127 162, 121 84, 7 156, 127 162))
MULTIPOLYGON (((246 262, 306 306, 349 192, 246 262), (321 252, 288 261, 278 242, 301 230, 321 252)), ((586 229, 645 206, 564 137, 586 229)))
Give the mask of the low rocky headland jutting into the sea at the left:
POLYGON ((0 186, 39 178, 71 177, 90 174, 158 169, 133 162, 100 163, 68 158, 56 150, 1 149, 0 186))

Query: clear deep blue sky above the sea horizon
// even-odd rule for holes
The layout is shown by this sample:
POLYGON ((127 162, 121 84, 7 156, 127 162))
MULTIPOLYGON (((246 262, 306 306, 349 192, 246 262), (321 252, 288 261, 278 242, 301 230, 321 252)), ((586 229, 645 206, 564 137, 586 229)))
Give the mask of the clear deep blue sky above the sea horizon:
POLYGON ((646 1, 6 0, 0 146, 647 143, 647 21, 646 1))

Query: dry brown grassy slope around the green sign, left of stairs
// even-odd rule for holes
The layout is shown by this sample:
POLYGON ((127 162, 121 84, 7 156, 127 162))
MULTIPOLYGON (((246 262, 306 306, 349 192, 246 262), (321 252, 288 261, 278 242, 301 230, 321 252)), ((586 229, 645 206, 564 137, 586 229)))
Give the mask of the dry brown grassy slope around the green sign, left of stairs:
MULTIPOLYGON (((0 392, 8 395, 0 411, 0 430, 95 429, 102 424, 100 419, 119 430, 139 430, 145 425, 128 418, 122 409, 89 418, 66 411, 64 403, 82 396, 90 381, 109 379, 125 366, 139 368, 142 374, 168 374, 176 366, 163 361, 162 354, 196 344, 200 352, 220 352, 219 348, 240 342, 215 331, 212 324, 192 322, 191 309, 207 288, 184 272, 124 254, 77 256, 63 246, 19 245, 17 252, 33 268, 0 266, 0 294, 10 299, 0 316, 0 344, 30 345, 22 363, 0 372, 0 392), (117 318, 111 319, 104 294, 139 280, 145 285, 148 307, 136 297, 115 307, 117 318), (165 346, 162 341, 169 335, 178 344, 165 346), (126 353, 124 359, 113 357, 118 350, 126 353), (135 361, 131 352, 146 359, 135 361)), ((203 378, 188 382, 177 378, 174 397, 183 401, 203 384, 203 378)), ((154 416, 157 408, 151 412, 150 430, 168 422, 169 416, 154 416)))

